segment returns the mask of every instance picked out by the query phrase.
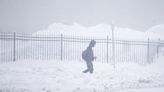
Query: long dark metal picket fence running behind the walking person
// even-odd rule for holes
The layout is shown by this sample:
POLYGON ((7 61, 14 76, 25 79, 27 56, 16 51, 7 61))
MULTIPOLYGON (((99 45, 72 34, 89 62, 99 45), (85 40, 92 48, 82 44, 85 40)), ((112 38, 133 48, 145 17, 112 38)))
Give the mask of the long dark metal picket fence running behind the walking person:
POLYGON ((0 61, 36 60, 76 60, 82 61, 81 53, 91 39, 97 43, 94 47, 96 62, 112 63, 136 62, 147 64, 158 57, 161 41, 126 41, 115 40, 108 36, 103 39, 71 37, 56 35, 53 37, 25 34, 0 34, 0 61), (115 46, 115 57, 112 57, 112 46, 115 46))

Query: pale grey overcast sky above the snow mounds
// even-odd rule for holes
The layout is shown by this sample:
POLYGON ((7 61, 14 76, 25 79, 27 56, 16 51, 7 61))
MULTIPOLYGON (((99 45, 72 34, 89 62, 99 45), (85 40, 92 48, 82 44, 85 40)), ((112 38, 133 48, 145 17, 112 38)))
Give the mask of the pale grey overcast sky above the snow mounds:
POLYGON ((164 0, 0 0, 0 32, 31 33, 54 22, 145 31, 164 24, 164 0))

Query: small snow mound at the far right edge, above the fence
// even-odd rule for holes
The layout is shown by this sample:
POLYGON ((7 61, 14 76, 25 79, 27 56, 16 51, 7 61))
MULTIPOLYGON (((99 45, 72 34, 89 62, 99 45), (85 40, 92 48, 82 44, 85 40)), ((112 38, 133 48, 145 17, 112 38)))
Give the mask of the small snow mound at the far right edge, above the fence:
POLYGON ((147 30, 147 32, 158 35, 160 39, 164 39, 164 24, 156 25, 147 30))

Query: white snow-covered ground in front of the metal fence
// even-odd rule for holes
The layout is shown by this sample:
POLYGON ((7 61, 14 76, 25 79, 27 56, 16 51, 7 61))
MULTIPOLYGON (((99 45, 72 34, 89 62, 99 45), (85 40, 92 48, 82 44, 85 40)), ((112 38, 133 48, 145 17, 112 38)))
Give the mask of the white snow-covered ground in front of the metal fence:
POLYGON ((151 65, 20 60, 0 64, 0 92, 164 92, 164 57, 151 65))

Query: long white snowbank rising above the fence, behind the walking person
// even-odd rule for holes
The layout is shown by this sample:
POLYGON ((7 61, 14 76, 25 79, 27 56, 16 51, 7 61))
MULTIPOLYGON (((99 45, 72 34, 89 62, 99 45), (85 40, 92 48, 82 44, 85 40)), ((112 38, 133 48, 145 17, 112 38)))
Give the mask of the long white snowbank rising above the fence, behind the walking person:
MULTIPOLYGON (((114 37, 116 39, 122 40, 147 40, 148 38, 152 40, 157 40, 159 35, 154 34, 153 32, 141 32, 137 30, 132 30, 129 28, 120 28, 114 27, 114 37)), ((41 30, 34 35, 74 35, 74 36, 83 36, 83 37, 103 37, 109 36, 112 37, 112 26, 108 24, 98 24, 95 26, 85 27, 78 23, 73 23, 71 25, 63 23, 53 23, 48 26, 46 30, 41 30)))

